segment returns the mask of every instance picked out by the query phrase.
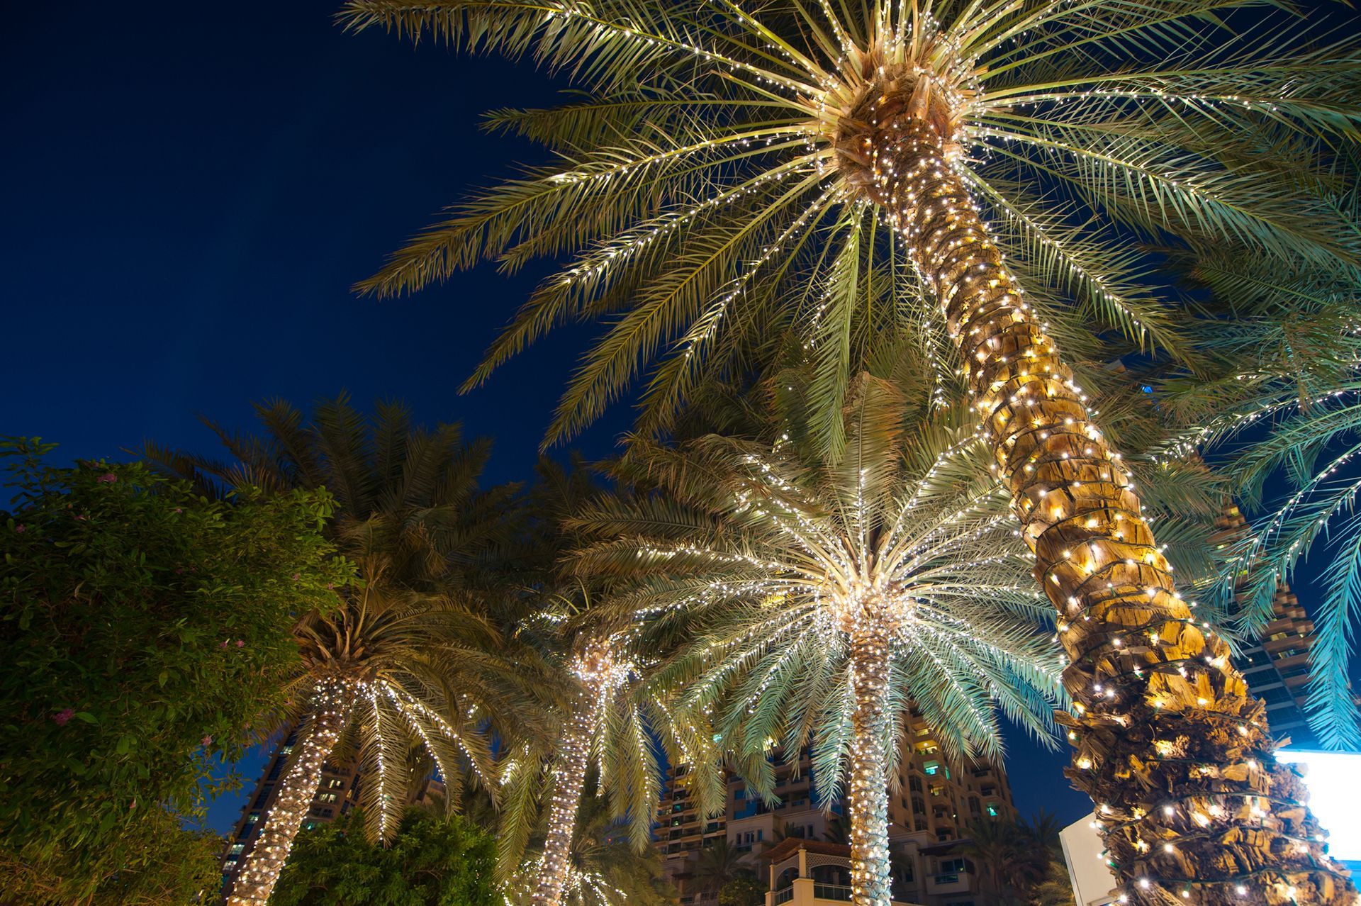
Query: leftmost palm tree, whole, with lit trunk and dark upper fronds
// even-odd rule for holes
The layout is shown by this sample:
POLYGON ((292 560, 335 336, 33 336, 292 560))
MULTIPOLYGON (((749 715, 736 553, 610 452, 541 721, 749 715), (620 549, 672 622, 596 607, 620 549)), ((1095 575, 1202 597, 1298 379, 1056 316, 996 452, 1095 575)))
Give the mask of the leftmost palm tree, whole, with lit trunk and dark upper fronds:
POLYGON ((510 537, 512 488, 479 491, 486 442, 465 443, 455 424, 412 429, 400 405, 372 423, 342 397, 310 422, 284 403, 257 407, 261 438, 214 426, 231 463, 148 446, 165 468, 206 491, 257 486, 325 487, 336 498, 328 532, 362 580, 335 612, 299 616, 302 668, 275 725, 298 725, 282 788, 227 902, 265 903, 321 781, 323 762, 357 748, 366 831, 387 839, 414 779, 412 745, 433 758, 449 803, 464 769, 491 784, 493 725, 519 731, 531 701, 516 657, 479 594, 485 563, 510 537))

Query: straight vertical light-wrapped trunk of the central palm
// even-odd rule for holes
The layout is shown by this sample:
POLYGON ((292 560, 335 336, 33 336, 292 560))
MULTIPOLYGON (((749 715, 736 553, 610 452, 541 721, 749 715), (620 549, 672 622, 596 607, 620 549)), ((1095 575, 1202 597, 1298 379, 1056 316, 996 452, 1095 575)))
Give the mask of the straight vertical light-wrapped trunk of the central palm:
POLYGON ((883 620, 862 618, 851 633, 851 902, 889 906, 887 699, 889 630, 883 620))

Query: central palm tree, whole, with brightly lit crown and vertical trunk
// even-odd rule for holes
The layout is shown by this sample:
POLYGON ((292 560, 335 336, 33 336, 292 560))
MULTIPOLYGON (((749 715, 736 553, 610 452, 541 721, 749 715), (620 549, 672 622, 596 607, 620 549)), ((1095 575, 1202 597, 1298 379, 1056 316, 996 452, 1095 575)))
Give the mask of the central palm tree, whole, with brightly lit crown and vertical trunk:
MULTIPOLYGON (((832 796, 847 778, 853 898, 876 906, 909 697, 953 755, 998 756, 1003 710, 1052 744, 1060 665, 974 426, 912 422, 898 385, 866 374, 845 407, 847 454, 827 461, 798 420, 814 380, 780 377, 791 408, 765 439, 640 441, 659 494, 583 511, 576 524, 604 537, 577 569, 632 578, 611 605, 651 638, 691 639, 655 672, 683 690, 680 714, 712 713, 746 755, 811 741, 832 796)), ((759 788, 768 774, 747 777, 759 788)))

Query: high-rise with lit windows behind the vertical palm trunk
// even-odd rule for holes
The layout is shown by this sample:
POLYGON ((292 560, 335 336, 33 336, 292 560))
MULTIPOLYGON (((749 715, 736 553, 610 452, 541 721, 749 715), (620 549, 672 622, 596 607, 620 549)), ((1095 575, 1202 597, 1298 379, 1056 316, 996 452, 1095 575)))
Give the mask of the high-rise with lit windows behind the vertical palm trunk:
MULTIPOLYGON (((968 835, 969 822, 1015 819, 1006 771, 981 760, 958 765, 945 758, 938 739, 916 709, 908 720, 901 752, 897 777, 889 784, 889 838, 897 853, 894 899, 924 906, 981 903, 979 873, 970 860, 954 850, 960 838, 968 835)), ((701 861, 716 841, 727 841, 744 867, 762 880, 769 872, 766 854, 774 852, 785 857, 776 846, 791 850, 788 858, 798 864, 795 845, 781 841, 818 841, 817 846, 823 849, 844 842, 847 828, 841 816, 845 805, 837 800, 823 808, 810 752, 802 751, 798 765, 785 765, 778 754, 774 762, 778 804, 766 805, 750 794, 740 777, 729 775, 724 812, 712 818, 701 815, 690 799, 687 767, 675 766, 668 773, 657 808, 656 846, 683 905, 717 903, 717 891, 706 884, 701 861)), ((834 856, 819 852, 814 861, 833 871, 833 862, 840 858, 834 856)), ((807 861, 807 853, 803 858, 807 861)))

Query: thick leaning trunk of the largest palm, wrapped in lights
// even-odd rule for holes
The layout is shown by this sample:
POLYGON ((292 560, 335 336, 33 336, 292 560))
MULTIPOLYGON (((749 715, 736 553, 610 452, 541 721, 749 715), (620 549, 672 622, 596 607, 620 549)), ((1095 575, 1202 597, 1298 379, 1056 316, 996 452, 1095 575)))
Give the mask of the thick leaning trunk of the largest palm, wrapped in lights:
POLYGON ((867 192, 939 299, 1057 608, 1075 711, 1067 773, 1097 804, 1124 894, 1353 903, 1298 775, 1273 756, 1263 705, 1177 594, 1120 454, 988 237, 925 94, 886 99, 883 125, 848 141, 871 161, 867 192))

